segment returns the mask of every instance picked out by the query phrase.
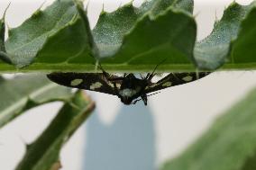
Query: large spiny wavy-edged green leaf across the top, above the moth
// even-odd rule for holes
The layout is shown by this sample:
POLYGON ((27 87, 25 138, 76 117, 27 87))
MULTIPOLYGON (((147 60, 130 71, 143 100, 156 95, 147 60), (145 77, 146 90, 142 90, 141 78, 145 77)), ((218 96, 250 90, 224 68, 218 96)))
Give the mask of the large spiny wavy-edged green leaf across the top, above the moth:
POLYGON ((255 4, 231 4, 214 31, 197 42, 192 0, 151 0, 139 8, 126 4, 102 12, 93 30, 80 2, 59 0, 11 29, 5 50, 0 40, 6 54, 0 57, 13 63, 0 63, 0 70, 94 72, 96 60, 114 72, 151 71, 163 60, 158 71, 253 69, 255 4))

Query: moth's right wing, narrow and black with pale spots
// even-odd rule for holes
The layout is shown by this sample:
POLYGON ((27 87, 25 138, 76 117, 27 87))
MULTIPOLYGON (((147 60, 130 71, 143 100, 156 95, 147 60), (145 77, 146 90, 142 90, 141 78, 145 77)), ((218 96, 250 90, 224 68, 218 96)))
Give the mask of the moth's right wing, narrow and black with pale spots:
POLYGON ((149 94, 161 89, 168 88, 175 85, 183 85, 193 81, 196 81, 204 76, 209 75, 210 72, 200 72, 200 73, 170 73, 168 76, 160 79, 157 83, 153 83, 146 87, 145 93, 149 94))

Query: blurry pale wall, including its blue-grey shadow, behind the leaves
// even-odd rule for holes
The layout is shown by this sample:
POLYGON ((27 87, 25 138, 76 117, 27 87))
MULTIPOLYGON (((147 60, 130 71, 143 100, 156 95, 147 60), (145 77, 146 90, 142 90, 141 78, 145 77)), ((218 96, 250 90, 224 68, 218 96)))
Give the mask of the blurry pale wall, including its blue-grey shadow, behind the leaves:
MULTIPOLYGON (((252 0, 237 1, 250 4, 252 0)), ((9 27, 20 25, 45 0, 1 0, 0 15, 9 27)), ((96 24, 104 2, 114 11, 129 0, 91 0, 88 15, 96 24)), ((195 0, 198 39, 212 30, 224 7, 233 0, 195 0)), ((48 0, 43 7, 52 3, 48 0)), ((135 0, 139 6, 142 0, 135 0)), ((63 170, 153 170, 176 157, 228 109, 256 86, 256 73, 217 72, 197 82, 161 91, 142 103, 124 106, 117 97, 89 93, 96 100, 96 112, 61 152, 63 170)), ((0 93, 1 94, 1 93, 0 93)), ((25 143, 31 143, 56 115, 61 103, 50 103, 24 114, 0 130, 0 169, 12 170, 23 157, 25 143)))

